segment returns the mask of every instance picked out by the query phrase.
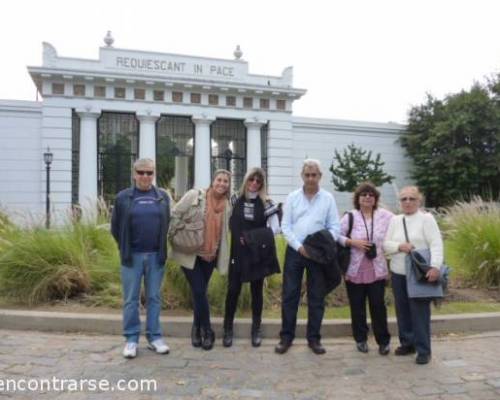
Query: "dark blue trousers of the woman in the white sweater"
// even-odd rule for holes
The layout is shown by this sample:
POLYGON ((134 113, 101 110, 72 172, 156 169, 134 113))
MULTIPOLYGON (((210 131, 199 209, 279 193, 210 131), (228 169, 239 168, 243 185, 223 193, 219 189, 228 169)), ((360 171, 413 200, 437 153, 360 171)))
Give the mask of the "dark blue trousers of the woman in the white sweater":
POLYGON ((414 346, 418 354, 431 354, 431 301, 410 299, 406 276, 392 274, 392 290, 396 305, 399 341, 402 346, 414 346))

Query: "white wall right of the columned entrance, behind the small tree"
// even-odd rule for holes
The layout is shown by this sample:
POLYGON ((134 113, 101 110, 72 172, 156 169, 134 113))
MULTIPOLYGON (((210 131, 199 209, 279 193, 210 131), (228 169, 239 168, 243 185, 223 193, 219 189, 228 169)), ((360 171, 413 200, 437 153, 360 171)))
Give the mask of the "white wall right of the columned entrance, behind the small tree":
POLYGON ((329 120, 318 118, 293 117, 293 187, 300 187, 300 170, 305 158, 320 160, 323 169, 321 186, 335 196, 340 213, 352 208, 352 194, 336 192, 329 171, 335 149, 342 152, 354 143, 373 155, 381 154, 385 162, 384 171, 396 176, 393 184, 381 188, 381 202, 395 209, 397 197, 395 188, 400 188, 411 181, 409 179, 409 160, 404 150, 396 142, 403 125, 394 123, 372 123, 360 121, 329 120))

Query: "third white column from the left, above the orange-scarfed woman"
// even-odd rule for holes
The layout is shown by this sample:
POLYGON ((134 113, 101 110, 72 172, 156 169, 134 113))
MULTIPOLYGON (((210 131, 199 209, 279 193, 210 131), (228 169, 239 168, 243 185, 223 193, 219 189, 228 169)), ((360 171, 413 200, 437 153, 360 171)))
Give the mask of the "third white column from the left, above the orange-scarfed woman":
POLYGON ((195 124, 194 139, 194 187, 206 188, 211 181, 210 165, 210 124, 213 117, 193 116, 195 124))

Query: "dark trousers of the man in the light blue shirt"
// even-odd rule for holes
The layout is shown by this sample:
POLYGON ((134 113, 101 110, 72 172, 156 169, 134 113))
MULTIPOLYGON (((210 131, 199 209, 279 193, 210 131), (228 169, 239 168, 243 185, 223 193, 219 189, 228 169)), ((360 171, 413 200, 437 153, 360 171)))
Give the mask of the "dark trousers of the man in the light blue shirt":
POLYGON ((309 342, 321 339, 320 329, 325 312, 325 280, 321 266, 287 247, 283 271, 281 303, 281 332, 283 342, 291 343, 295 338, 297 311, 300 302, 302 277, 307 277, 307 332, 309 342))

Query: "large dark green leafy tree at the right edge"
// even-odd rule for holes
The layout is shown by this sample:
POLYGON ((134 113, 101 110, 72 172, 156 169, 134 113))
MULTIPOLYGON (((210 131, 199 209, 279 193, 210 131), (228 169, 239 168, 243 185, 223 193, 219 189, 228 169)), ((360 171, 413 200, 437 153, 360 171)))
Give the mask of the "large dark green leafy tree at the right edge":
POLYGON ((409 111, 401 145, 427 205, 444 206, 500 191, 500 79, 409 111))

